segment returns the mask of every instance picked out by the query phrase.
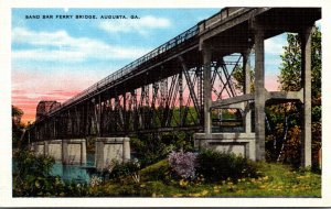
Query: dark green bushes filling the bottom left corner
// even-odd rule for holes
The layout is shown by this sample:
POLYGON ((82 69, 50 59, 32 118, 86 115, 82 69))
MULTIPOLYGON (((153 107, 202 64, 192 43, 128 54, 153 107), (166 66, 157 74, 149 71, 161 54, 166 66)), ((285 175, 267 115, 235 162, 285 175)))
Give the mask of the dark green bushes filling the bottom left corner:
POLYGON ((63 183, 52 176, 52 157, 34 155, 20 150, 13 154, 13 197, 81 197, 86 195, 86 185, 63 183))

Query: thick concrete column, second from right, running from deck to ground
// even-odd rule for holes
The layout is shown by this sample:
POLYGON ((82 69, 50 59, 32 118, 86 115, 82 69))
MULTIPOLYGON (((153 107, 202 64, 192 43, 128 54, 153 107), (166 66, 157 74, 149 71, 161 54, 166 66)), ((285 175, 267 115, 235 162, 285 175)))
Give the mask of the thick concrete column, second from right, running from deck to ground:
POLYGON ((265 45, 263 25, 255 22, 255 134, 256 160, 265 160, 265 45))

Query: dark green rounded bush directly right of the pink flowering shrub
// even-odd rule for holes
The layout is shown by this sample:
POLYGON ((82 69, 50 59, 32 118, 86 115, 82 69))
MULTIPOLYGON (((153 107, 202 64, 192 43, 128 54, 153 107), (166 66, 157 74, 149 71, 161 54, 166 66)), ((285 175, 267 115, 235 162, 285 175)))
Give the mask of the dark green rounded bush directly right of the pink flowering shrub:
POLYGON ((233 153, 203 151, 197 155, 196 173, 207 182, 218 182, 231 178, 257 177, 257 166, 252 161, 233 153))

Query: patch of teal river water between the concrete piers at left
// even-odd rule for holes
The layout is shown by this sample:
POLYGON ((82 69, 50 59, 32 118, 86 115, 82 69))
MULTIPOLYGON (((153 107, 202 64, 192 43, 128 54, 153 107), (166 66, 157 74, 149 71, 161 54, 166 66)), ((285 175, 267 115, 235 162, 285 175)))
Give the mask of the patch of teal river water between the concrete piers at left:
POLYGON ((95 167, 95 155, 87 154, 85 165, 63 165, 61 162, 55 163, 51 174, 61 176, 64 182, 75 182, 87 184, 93 175, 95 167))

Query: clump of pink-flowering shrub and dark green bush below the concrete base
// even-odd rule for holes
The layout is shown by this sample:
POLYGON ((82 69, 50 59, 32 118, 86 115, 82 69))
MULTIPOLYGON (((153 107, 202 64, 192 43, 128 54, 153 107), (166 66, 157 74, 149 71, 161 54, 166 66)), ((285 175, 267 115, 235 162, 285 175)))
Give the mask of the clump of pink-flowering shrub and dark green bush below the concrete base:
POLYGON ((206 182, 258 177, 257 165, 233 153, 206 150, 201 153, 172 152, 168 156, 171 170, 182 179, 202 176, 206 182))

